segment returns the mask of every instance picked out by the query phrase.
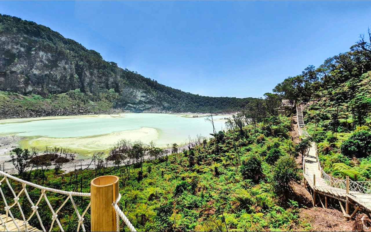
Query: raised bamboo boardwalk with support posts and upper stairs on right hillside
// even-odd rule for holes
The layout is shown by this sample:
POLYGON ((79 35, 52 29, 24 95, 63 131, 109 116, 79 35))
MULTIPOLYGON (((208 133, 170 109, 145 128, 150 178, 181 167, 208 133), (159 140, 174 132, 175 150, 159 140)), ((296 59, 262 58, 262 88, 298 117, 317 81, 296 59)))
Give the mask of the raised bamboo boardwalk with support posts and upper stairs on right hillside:
MULTIPOLYGON (((302 107, 297 109, 299 135, 308 135, 304 129, 302 107)), ((321 203, 327 207, 328 197, 339 200, 340 207, 345 217, 352 218, 359 209, 371 212, 371 182, 354 182, 348 178, 339 180, 326 174, 319 163, 316 143, 312 142, 308 154, 303 159, 303 176, 312 190, 313 205, 321 203), (316 202, 318 196, 319 202, 316 202), (325 198, 324 202, 321 200, 325 198), (341 202, 345 202, 345 209, 341 202), (354 211, 349 215, 349 205, 354 206, 354 211)))

